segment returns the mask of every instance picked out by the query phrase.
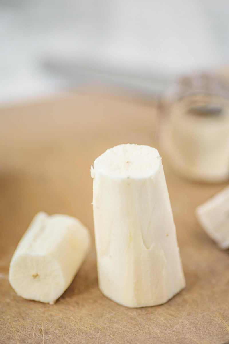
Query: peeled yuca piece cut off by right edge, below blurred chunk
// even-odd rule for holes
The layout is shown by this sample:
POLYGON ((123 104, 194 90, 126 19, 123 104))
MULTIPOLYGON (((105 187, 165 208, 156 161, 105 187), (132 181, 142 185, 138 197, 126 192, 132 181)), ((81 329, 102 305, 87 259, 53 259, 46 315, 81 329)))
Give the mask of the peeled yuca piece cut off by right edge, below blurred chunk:
POLYGON ((222 249, 229 248, 229 186, 196 208, 196 216, 222 249))

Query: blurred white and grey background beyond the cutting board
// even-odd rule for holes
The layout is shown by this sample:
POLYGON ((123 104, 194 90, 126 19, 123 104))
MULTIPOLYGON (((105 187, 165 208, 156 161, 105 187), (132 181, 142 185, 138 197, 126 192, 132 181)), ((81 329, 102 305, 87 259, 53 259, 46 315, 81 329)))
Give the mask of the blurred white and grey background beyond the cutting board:
POLYGON ((0 104, 108 86, 155 97, 229 63, 228 0, 0 0, 0 104))

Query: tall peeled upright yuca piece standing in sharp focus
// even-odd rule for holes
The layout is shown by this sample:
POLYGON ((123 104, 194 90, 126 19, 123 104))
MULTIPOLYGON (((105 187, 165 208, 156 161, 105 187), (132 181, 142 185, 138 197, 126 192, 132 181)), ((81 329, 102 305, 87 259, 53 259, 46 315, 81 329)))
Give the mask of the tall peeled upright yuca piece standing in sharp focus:
POLYGON ((101 291, 128 307, 168 301, 185 280, 158 151, 121 144, 91 174, 101 291))

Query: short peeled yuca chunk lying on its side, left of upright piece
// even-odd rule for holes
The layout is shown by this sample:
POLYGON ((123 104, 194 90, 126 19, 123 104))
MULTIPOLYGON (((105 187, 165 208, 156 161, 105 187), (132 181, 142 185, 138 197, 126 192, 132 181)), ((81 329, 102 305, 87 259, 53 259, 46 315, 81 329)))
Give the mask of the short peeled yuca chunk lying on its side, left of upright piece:
POLYGON ((76 218, 38 213, 12 257, 11 286, 24 299, 54 303, 72 282, 90 243, 88 229, 76 218))

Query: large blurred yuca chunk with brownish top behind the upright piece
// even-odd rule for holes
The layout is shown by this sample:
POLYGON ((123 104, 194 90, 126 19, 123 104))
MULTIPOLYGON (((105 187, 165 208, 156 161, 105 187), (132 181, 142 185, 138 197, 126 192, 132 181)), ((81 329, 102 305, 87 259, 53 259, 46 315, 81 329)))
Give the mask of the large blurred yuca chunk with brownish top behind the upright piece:
POLYGON ((215 76, 182 78, 166 95, 160 143, 182 176, 229 178, 229 85, 215 76))

